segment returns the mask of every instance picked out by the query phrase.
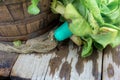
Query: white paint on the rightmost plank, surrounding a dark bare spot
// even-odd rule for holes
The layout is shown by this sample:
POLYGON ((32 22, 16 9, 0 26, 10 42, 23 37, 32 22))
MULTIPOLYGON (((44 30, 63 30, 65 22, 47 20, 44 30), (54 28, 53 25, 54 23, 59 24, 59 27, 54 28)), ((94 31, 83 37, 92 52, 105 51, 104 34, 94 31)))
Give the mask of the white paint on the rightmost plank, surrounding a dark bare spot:
POLYGON ((112 54, 113 53, 110 52, 104 55, 103 80, 120 80, 120 66, 118 66, 115 62, 113 62, 112 54), (107 68, 109 64, 113 66, 113 70, 114 70, 113 77, 108 77, 107 68))

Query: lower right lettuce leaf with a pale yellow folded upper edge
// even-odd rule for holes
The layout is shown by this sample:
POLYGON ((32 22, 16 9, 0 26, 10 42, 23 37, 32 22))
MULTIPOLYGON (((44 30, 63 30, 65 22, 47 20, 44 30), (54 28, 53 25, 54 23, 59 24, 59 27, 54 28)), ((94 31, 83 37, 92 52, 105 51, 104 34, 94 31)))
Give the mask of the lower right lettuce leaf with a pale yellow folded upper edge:
POLYGON ((93 40, 105 48, 108 44, 111 44, 117 36, 118 30, 102 27, 96 35, 91 35, 93 40))

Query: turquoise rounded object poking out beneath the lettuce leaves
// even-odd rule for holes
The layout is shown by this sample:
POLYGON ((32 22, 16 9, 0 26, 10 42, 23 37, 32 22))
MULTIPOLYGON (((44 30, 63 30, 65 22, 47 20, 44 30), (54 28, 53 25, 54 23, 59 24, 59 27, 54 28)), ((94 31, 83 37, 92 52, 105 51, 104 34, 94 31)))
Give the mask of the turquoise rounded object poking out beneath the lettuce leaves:
POLYGON ((69 30, 68 22, 64 22, 59 28, 54 32, 54 37, 57 41, 63 41, 72 36, 72 32, 69 30))

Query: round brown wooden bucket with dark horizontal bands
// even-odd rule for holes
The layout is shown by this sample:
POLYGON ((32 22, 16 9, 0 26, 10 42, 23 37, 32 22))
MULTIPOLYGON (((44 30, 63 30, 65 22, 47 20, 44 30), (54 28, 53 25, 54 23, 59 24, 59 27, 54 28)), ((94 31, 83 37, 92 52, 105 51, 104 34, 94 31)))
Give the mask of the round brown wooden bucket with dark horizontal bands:
POLYGON ((38 15, 30 15, 30 0, 1 0, 0 41, 27 40, 50 30, 58 19, 50 11, 51 0, 40 0, 38 15))

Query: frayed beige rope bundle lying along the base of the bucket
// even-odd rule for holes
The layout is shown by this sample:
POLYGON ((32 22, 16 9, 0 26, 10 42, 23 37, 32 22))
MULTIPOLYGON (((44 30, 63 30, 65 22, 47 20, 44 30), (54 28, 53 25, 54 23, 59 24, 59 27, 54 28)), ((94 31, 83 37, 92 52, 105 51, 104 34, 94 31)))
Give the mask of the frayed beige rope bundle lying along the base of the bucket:
POLYGON ((29 39, 25 44, 22 44, 19 47, 14 47, 9 44, 0 43, 0 50, 6 52, 15 52, 15 53, 44 53, 54 49, 57 46, 57 41, 53 37, 53 31, 49 34, 39 36, 37 38, 29 39))

